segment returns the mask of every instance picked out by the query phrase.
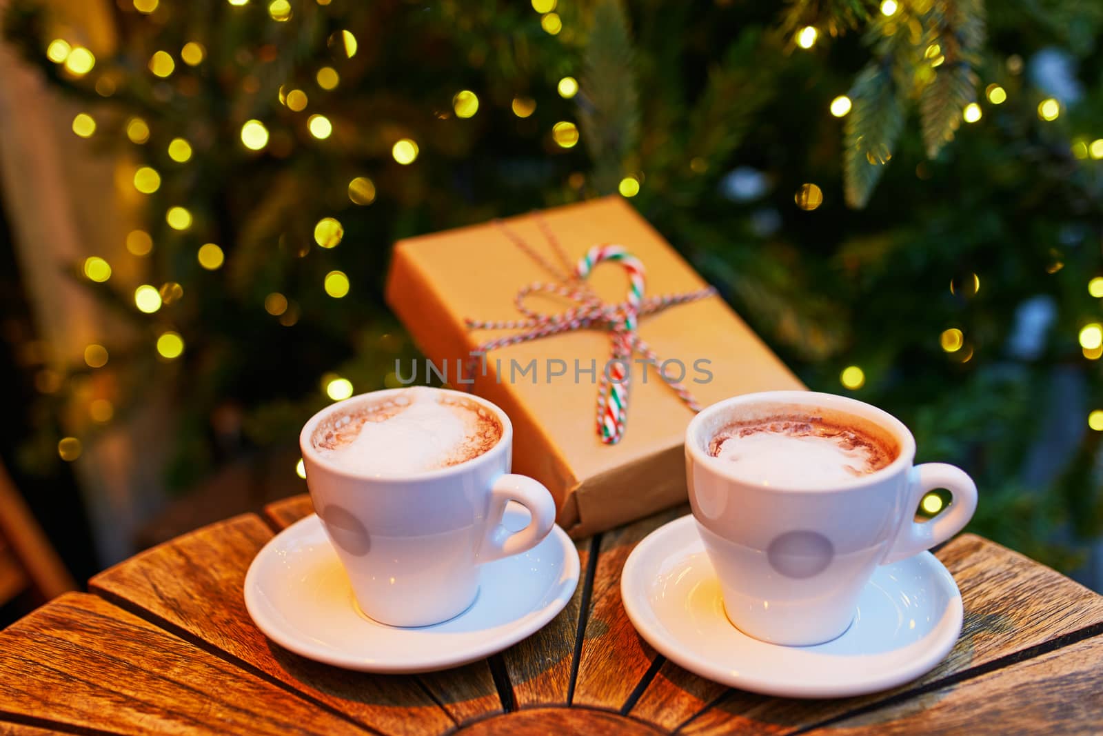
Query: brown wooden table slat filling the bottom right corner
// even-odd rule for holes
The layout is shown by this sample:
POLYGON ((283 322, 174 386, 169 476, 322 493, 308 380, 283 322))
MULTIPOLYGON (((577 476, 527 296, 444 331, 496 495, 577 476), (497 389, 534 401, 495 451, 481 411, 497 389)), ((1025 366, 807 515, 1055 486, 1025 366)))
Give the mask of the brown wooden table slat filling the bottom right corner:
POLYGON ((1099 734, 1103 638, 1095 637, 973 680, 810 732, 866 734, 1099 734))

